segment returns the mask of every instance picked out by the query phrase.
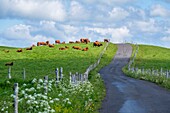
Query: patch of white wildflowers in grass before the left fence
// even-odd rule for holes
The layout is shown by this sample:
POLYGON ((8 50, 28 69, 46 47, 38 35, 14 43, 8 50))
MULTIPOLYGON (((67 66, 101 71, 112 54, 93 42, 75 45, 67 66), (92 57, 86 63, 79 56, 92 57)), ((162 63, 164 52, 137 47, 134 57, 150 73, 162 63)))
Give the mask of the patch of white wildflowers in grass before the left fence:
MULTIPOLYGON (((55 80, 33 79, 19 88, 19 111, 26 113, 81 112, 90 109, 93 103, 93 86, 90 82, 67 84, 55 80), (47 92, 45 92, 47 90, 47 92), (77 109, 78 108, 78 109, 77 109)), ((15 95, 11 95, 15 98, 15 95)), ((8 105, 1 109, 8 113, 8 105)))

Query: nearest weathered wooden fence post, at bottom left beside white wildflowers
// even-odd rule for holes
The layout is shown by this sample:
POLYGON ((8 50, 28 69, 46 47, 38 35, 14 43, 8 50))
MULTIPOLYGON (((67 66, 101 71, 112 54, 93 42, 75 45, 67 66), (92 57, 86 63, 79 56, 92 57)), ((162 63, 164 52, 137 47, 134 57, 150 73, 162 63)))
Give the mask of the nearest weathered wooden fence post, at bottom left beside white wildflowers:
POLYGON ((18 83, 14 83, 14 113, 18 113, 18 83))

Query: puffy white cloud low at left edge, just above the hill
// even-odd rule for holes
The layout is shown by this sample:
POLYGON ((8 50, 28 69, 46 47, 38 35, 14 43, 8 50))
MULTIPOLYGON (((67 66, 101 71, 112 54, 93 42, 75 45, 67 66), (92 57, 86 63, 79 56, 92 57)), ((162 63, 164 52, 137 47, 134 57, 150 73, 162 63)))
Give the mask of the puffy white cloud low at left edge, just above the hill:
POLYGON ((31 35, 31 30, 33 30, 32 26, 23 24, 15 25, 6 29, 3 33, 1 33, 1 41, 4 43, 2 45, 8 44, 9 46, 27 47, 32 44, 36 44, 38 41, 47 40, 54 43, 54 38, 43 36, 41 34, 33 36, 31 35))

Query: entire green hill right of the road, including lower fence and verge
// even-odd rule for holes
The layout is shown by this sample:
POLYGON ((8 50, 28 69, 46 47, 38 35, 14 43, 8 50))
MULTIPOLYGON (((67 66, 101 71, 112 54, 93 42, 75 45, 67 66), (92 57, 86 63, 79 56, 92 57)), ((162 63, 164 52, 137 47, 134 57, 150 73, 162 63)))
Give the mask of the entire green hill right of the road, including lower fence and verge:
MULTIPOLYGON (((132 47, 131 60, 137 49, 135 45, 132 45, 132 47)), ((167 71, 170 70, 170 49, 149 45, 138 45, 138 47, 137 55, 131 65, 131 71, 126 66, 123 68, 123 72, 130 77, 148 80, 170 89, 170 77, 168 77, 170 73, 167 71)))

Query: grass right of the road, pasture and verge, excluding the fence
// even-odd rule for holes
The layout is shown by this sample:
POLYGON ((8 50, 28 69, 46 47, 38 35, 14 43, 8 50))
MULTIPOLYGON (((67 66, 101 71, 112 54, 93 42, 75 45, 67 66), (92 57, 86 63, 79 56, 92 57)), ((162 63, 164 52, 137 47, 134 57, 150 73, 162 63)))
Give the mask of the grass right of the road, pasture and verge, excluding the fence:
MULTIPOLYGON (((135 51, 136 46, 132 45, 133 51, 135 51)), ((134 52, 133 52, 134 54, 134 52)), ((139 45, 139 51, 135 58, 132 67, 144 68, 144 69, 160 69, 169 70, 170 69, 170 49, 157 47, 157 46, 148 46, 148 45, 139 45)), ((133 55, 131 56, 133 57, 133 55)), ((136 74, 128 71, 127 66, 123 69, 123 72, 133 78, 148 80, 150 82, 156 83, 162 87, 170 89, 170 78, 165 76, 153 76, 148 74, 136 74)))

